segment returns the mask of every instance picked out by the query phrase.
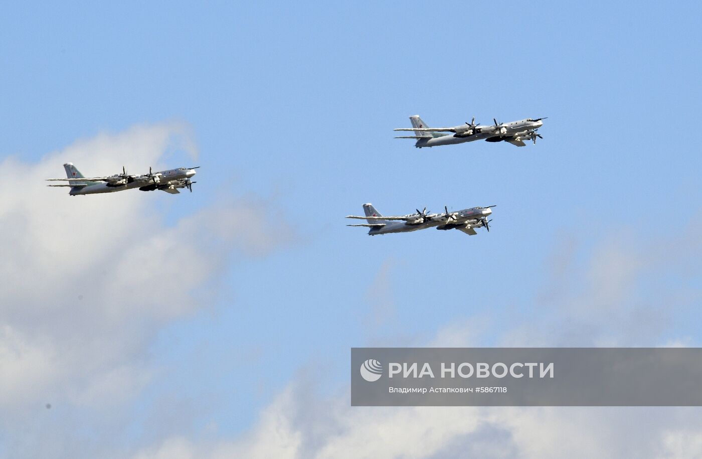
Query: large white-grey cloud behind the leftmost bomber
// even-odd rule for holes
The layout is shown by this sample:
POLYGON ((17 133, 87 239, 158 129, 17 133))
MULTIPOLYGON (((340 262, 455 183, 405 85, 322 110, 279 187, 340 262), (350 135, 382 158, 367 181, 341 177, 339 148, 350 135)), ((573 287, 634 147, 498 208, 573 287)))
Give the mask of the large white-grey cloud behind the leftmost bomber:
MULTIPOLYGON (((0 181, 5 434, 38 428, 34 421, 18 424, 17 416, 46 403, 53 411, 72 406, 102 415, 128 404, 158 371, 145 357, 155 333, 204 306, 193 295, 197 287, 216 281, 232 253, 265 255, 295 239, 284 217, 264 224, 261 215, 278 209, 256 197, 218 199, 168 226, 159 199, 188 195, 69 197, 67 188, 44 186, 44 179, 65 175, 68 161, 86 175, 122 165, 158 170, 174 151, 190 162, 197 154, 191 139, 180 123, 135 126, 79 140, 38 164, 16 158, 0 164, 11 172, 0 181)), ((14 457, 41 455, 29 440, 15 443, 14 457)))

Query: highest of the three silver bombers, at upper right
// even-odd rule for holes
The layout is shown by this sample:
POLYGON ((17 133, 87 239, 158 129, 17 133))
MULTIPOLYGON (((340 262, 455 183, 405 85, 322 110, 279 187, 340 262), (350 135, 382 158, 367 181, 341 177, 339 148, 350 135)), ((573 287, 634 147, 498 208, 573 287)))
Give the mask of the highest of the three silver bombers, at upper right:
POLYGON ((475 124, 475 117, 468 123, 453 128, 430 128, 419 115, 409 117, 412 122, 411 128, 399 128, 395 131, 414 131, 414 135, 396 137, 396 139, 416 139, 414 144, 417 148, 423 147, 438 147, 439 145, 453 145, 454 143, 472 142, 474 140, 486 140, 487 142, 510 142, 517 147, 527 145, 524 140, 531 140, 536 144, 536 138, 543 139, 541 134, 536 130, 543 126, 542 119, 522 119, 512 121, 511 123, 498 123, 496 119, 492 119, 495 124, 490 126, 480 126, 475 124), (444 134, 444 133, 453 133, 444 134))

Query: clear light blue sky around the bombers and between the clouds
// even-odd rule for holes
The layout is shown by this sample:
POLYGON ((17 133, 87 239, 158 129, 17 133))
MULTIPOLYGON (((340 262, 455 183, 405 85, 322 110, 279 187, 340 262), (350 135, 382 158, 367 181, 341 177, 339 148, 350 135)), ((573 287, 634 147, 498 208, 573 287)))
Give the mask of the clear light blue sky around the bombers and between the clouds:
MULTIPOLYGON (((323 368, 322 392, 343 391, 352 346, 425 345, 475 318, 490 325, 474 344, 498 345, 558 279, 563 244, 587 265, 597 246, 644 253, 684 234, 702 197, 700 13, 698 2, 6 6, 3 157, 38 163, 100 133, 182 121, 197 164, 176 148, 160 165, 201 166, 194 193, 138 199, 175 227, 218 199, 251 198, 267 203, 266 225, 291 230, 263 258, 228 257, 189 293, 201 307, 145 337, 139 358, 158 375, 115 431, 140 444, 171 405, 183 422, 164 434, 211 423, 241 434, 300 372, 323 368), (412 114, 442 126, 548 119, 536 146, 415 149, 392 132, 412 114), (388 214, 497 207, 477 237, 370 238, 343 218, 364 202, 388 214), (376 323, 379 277, 392 307, 376 323)), ((677 250, 637 278, 644 296, 656 283, 699 288, 698 267, 661 274, 677 250)), ((635 345, 698 345, 698 312, 672 309, 668 328, 635 345)))

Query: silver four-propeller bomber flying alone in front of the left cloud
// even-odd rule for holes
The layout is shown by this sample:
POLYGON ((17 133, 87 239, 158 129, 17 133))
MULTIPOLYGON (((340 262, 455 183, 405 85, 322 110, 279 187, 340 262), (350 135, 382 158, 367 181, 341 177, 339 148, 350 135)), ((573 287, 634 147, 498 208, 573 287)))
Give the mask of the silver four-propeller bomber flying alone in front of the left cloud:
POLYGON ((112 193, 122 191, 124 189, 138 188, 142 191, 152 191, 160 189, 161 191, 178 194, 178 188, 190 189, 192 193, 192 184, 196 183, 190 180, 195 175, 197 167, 180 167, 177 169, 169 169, 168 171, 152 172, 149 168, 149 173, 143 175, 130 175, 124 167, 121 174, 110 175, 108 177, 84 177, 83 174, 72 163, 63 165, 66 169, 68 178, 48 178, 48 181, 68 181, 67 185, 47 185, 48 187, 70 187, 68 194, 77 196, 79 194, 96 194, 96 193, 112 193))

